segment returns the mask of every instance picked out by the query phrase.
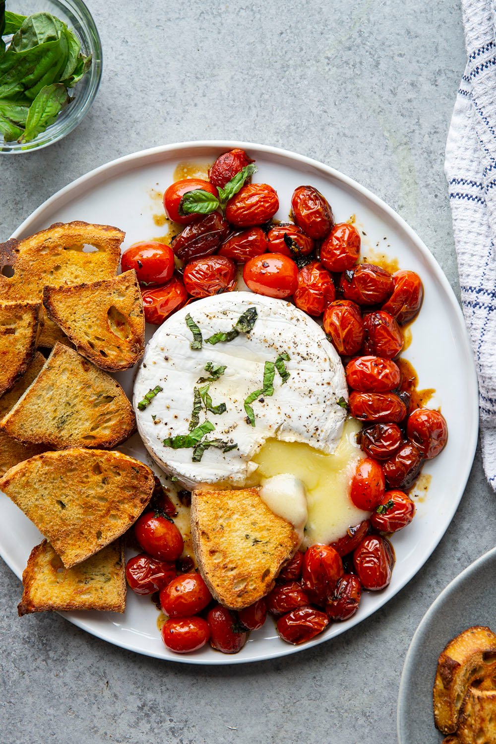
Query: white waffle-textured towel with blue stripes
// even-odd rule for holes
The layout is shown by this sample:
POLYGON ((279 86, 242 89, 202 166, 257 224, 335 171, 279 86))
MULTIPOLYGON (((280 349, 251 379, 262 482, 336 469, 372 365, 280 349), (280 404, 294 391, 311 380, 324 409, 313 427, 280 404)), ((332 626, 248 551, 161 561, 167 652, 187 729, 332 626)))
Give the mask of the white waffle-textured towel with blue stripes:
POLYGON ((446 144, 462 307, 480 391, 484 469, 496 490, 496 0, 462 0, 467 66, 446 144))

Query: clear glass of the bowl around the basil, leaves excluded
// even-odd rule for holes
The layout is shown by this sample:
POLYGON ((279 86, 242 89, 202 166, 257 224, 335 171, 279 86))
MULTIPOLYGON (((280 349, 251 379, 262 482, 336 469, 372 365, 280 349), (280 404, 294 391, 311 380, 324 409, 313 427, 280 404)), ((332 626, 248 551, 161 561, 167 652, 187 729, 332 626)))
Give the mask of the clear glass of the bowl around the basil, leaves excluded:
POLYGON ((59 113, 54 124, 41 132, 35 139, 25 144, 19 142, 6 142, 0 134, 0 153, 27 153, 30 150, 39 150, 48 147, 49 144, 57 142, 69 132, 88 113, 91 103, 97 94, 102 77, 102 47, 97 27, 91 17, 86 5, 81 0, 7 0, 6 10, 19 13, 22 16, 30 16, 31 13, 46 11, 63 21, 68 28, 76 33, 81 42, 83 54, 91 54, 91 67, 86 75, 69 94, 73 100, 62 112, 59 113))

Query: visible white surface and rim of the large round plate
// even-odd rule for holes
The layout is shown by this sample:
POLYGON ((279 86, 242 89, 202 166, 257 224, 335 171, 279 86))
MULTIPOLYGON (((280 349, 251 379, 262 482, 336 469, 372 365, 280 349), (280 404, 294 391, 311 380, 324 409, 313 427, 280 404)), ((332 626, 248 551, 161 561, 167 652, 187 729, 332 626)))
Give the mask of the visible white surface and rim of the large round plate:
MULTIPOLYGON (((428 248, 381 199, 342 173, 302 155, 243 142, 188 142, 167 145, 127 155, 91 171, 66 186, 36 209, 16 230, 13 237, 24 237, 53 222, 83 219, 117 225, 126 231, 123 247, 147 240, 163 232, 154 215, 161 213, 159 193, 173 182, 180 161, 211 163, 217 155, 242 147, 258 166, 254 180, 277 189, 280 211, 287 219, 295 187, 311 184, 329 200, 337 222, 354 214, 356 226, 364 231, 362 255, 372 260, 374 251, 397 258, 399 266, 417 272, 425 286, 425 301, 413 324, 412 341, 405 357, 419 376, 420 388, 435 388, 432 403, 442 405, 448 420, 449 440, 445 451, 425 465, 422 482, 430 478, 425 496, 417 499, 413 523, 393 537, 396 566, 390 586, 378 593, 365 593, 357 614, 345 623, 335 623, 314 641, 291 646, 280 641, 269 619, 251 634, 248 644, 235 656, 222 655, 210 647, 189 654, 169 652, 161 642, 156 626, 157 612, 144 597, 128 593, 125 615, 97 612, 71 612, 72 623, 113 644, 173 661, 196 664, 241 664, 274 658, 334 638, 365 620, 390 600, 419 571, 445 533, 463 494, 477 443, 477 379, 468 344, 463 315, 441 269, 428 248)), ((131 394, 132 371, 119 376, 131 394)), ((137 436, 124 452, 145 461, 145 449, 137 436)), ((0 495, 0 551, 10 568, 21 577, 30 549, 39 542, 38 530, 3 494, 0 495)))

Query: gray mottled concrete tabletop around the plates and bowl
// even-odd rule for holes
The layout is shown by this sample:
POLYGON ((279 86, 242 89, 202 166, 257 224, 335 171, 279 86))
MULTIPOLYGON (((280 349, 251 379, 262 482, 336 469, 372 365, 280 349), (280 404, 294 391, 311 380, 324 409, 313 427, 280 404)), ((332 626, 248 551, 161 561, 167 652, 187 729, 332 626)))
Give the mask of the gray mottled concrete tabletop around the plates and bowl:
MULTIPOLYGON (((103 42, 100 92, 65 140, 0 156, 2 238, 59 187, 119 155, 238 138, 310 155, 378 193, 457 289, 442 173, 464 67, 457 1, 88 6, 103 42)), ((333 642, 243 667, 161 663, 58 615, 19 620, 20 583, 2 563, 1 744, 393 743, 410 638, 448 581, 493 547, 495 503, 477 452, 448 532, 398 596, 333 642)))

